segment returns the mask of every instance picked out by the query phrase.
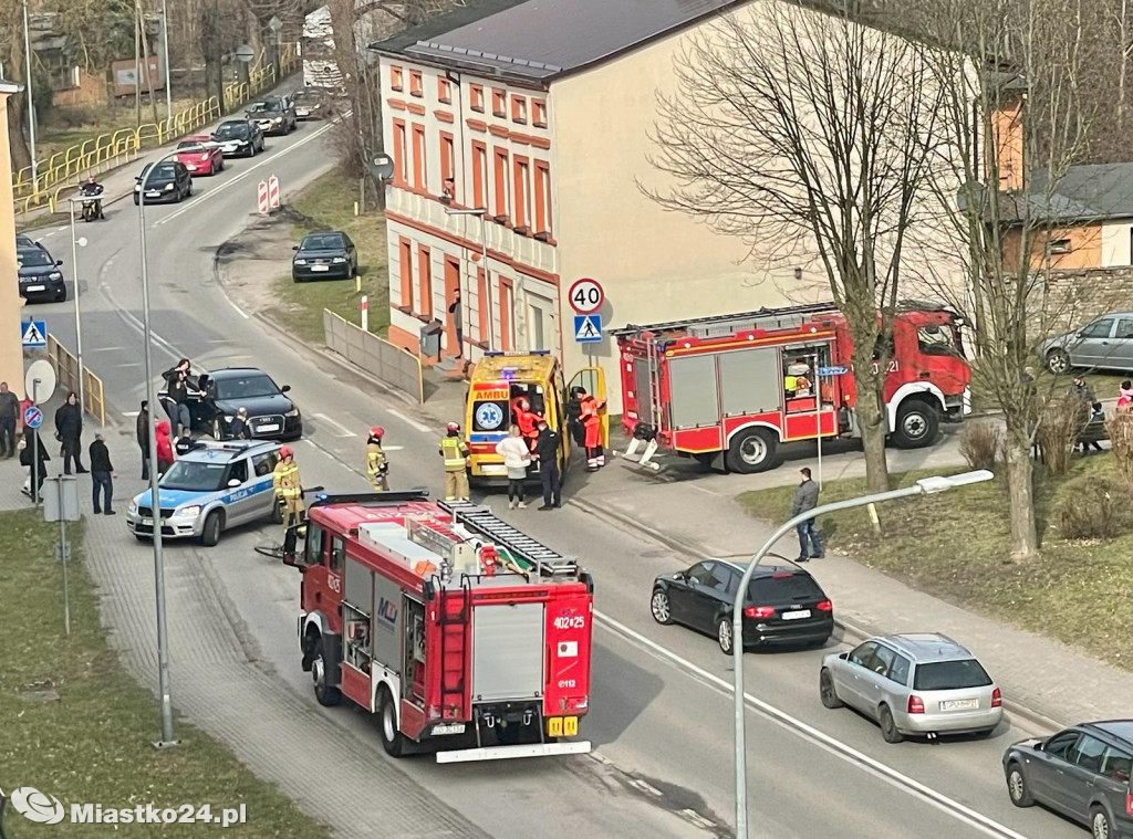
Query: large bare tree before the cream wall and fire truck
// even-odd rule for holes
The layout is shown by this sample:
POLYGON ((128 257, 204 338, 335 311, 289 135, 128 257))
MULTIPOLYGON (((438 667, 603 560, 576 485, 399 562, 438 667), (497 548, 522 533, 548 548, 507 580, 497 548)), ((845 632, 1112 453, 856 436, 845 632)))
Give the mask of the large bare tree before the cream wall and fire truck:
POLYGON ((653 163, 679 186, 646 191, 750 258, 815 260, 853 336, 868 485, 887 489, 881 387, 937 111, 921 51, 844 14, 759 2, 691 35, 675 71, 653 163))

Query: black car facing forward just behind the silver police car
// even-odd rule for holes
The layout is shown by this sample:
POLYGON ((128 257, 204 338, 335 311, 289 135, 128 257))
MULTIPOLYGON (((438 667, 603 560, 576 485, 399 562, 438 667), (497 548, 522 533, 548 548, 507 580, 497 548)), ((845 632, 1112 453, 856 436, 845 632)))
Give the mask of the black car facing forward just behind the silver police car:
MULTIPOLYGON (((212 374, 190 376, 189 417, 196 430, 216 439, 231 437, 232 420, 241 408, 248 412, 254 439, 297 439, 303 436, 303 414, 280 387, 255 367, 225 367, 212 374)), ((164 402, 165 391, 160 392, 164 402)))

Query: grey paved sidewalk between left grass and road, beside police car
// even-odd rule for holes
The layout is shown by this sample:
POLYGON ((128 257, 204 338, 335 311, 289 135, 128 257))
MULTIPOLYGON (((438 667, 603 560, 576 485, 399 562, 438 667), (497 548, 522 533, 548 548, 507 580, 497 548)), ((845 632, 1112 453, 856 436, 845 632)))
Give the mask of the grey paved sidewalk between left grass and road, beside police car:
MULTIPOLYGON (((126 508, 145 487, 133 428, 103 429, 118 468, 118 515, 93 515, 91 481, 79 477, 86 519, 85 562, 99 588, 110 643, 126 669, 157 688, 153 554, 126 529, 126 508)), ((49 435, 50 438, 50 435, 49 435)), ((94 439, 84 435, 84 450, 94 439)), ((58 451, 58 450, 57 450, 58 451)), ((87 464, 84 451, 83 462, 87 464)), ((49 474, 61 462, 52 455, 49 474)), ((0 510, 26 510, 19 488, 27 470, 0 461, 0 510)), ((218 559, 222 555, 218 556, 218 559)), ((211 562, 195 550, 165 553, 172 694, 176 709, 224 743, 259 778, 279 785, 306 813, 349 839, 412 836, 487 839, 487 834, 403 771, 283 685, 258 661, 250 633, 215 581, 211 562), (312 772, 309 767, 322 769, 312 772)), ((154 705, 156 720, 156 704, 154 705)), ((184 729, 182 729, 184 730, 184 729)))

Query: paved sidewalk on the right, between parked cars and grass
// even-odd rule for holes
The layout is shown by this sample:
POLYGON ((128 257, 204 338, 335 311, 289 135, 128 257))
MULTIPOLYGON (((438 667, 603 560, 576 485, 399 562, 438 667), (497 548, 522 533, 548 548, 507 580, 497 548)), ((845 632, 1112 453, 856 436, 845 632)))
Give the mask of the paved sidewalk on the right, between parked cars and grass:
MULTIPOLYGON (((859 465, 845 469, 850 474, 860 469, 861 457, 855 460, 859 465)), ((895 465, 894 460, 891 465, 895 465)), ((812 461, 806 463, 813 466, 812 461)), ((750 558, 773 528, 747 515, 734 497, 753 489, 756 480, 764 487, 798 480, 790 465, 767 476, 687 480, 646 473, 617 459, 607 459, 605 469, 583 476, 586 486, 572 493, 571 504, 624 528, 645 531, 692 556, 735 559, 750 558)), ((576 478, 571 476, 571 481, 576 478)), ((799 545, 794 533, 776 549, 785 557, 795 557, 799 545)), ((807 570, 834 600, 835 615, 851 634, 942 632, 968 645, 1003 687, 1010 710, 1050 726, 1130 716, 1133 673, 938 600, 846 557, 828 555, 807 570)))

